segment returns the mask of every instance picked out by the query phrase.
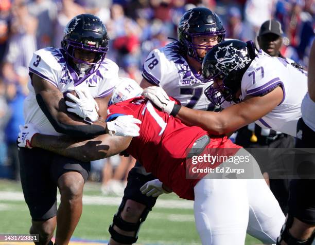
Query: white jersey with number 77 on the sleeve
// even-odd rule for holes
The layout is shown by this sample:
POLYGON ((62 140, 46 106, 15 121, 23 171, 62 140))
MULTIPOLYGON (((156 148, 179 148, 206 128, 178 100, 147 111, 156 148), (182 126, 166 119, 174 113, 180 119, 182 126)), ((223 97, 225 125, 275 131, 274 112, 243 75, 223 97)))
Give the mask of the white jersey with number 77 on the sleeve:
POLYGON ((283 100, 255 123, 295 137, 296 124, 301 118, 302 99, 307 92, 307 72, 295 68, 282 58, 271 57, 259 50, 243 75, 241 98, 263 96, 276 86, 282 87, 283 100))

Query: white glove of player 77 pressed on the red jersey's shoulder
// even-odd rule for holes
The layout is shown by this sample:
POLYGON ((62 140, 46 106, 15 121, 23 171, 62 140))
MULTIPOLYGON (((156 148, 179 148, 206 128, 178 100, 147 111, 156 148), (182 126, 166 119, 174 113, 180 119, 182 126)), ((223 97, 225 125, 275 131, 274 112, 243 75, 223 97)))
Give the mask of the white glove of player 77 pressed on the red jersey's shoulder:
POLYGON ((152 101, 156 106, 160 107, 168 115, 171 114, 175 101, 169 99, 162 87, 147 87, 143 90, 142 95, 152 101))

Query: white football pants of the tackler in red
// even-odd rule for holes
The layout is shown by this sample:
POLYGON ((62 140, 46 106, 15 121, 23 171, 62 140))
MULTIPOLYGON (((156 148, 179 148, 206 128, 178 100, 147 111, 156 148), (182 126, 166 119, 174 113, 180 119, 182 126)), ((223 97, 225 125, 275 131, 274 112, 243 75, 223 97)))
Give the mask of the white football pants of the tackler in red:
MULTIPOLYGON (((257 162, 252 161, 257 169, 257 162)), ((202 245, 244 245, 246 232, 264 244, 276 242, 285 216, 262 176, 203 178, 194 192, 195 222, 202 245)))

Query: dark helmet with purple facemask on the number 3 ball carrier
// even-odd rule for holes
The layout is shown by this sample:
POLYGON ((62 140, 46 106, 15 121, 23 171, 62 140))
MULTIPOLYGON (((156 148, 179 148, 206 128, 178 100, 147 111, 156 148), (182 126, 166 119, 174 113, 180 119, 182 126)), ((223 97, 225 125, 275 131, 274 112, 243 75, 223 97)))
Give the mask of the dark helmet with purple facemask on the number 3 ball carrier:
MULTIPOLYGON (((73 66, 100 64, 108 51, 109 37, 101 20, 92 14, 80 14, 74 17, 65 27, 61 47, 66 53, 67 61, 73 66), (93 62, 86 62, 74 56, 74 50, 83 49, 95 52, 93 62)), ((75 68, 75 67, 74 67, 75 68)))

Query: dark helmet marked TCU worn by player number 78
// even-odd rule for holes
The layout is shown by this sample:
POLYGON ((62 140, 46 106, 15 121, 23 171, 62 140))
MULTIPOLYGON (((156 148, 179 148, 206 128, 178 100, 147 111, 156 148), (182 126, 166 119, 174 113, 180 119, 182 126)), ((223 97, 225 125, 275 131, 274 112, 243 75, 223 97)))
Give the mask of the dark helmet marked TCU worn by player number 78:
POLYGON ((197 49, 211 49, 209 45, 195 45, 194 36, 218 35, 218 43, 224 41, 225 29, 219 16, 207 8, 193 8, 185 12, 178 25, 178 39, 190 58, 202 62, 197 49))

